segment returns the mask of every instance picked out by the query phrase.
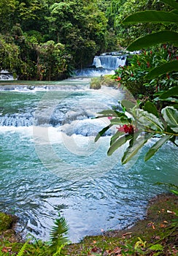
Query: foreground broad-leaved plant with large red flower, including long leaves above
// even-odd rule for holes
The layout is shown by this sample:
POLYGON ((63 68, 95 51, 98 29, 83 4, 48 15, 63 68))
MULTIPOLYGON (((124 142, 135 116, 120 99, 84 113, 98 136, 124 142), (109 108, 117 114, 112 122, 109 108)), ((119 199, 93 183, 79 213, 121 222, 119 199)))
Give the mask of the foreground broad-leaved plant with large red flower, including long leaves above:
MULTIPOLYGON (((124 24, 133 23, 178 23, 178 3, 174 0, 161 0, 169 4, 174 10, 171 12, 163 11, 144 11, 129 15, 123 21, 124 24)), ((158 44, 170 43, 174 47, 178 45, 178 33, 176 31, 158 31, 136 39, 128 50, 141 50, 158 44)), ((155 67, 147 73, 147 78, 158 78, 163 73, 177 72, 178 61, 167 61, 161 66, 155 67)), ((110 140, 108 155, 114 153, 117 148, 125 145, 125 152, 122 163, 130 161, 151 138, 157 138, 156 142, 150 147, 144 156, 144 160, 150 159, 158 149, 167 142, 177 146, 178 136, 178 86, 171 87, 167 91, 160 91, 155 94, 155 101, 160 102, 163 108, 158 110, 155 102, 147 101, 142 108, 138 103, 133 103, 127 99, 121 102, 122 111, 104 110, 96 118, 109 118, 110 124, 104 127, 95 138, 97 141, 107 129, 115 127, 115 135, 110 140)))

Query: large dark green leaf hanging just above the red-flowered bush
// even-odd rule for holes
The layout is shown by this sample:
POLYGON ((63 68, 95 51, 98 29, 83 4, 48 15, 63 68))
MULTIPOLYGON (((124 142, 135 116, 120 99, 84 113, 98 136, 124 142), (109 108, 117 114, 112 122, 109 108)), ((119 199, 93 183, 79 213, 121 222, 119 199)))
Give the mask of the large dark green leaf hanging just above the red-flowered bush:
POLYGON ((144 37, 139 37, 138 39, 136 39, 134 42, 131 43, 131 45, 128 45, 127 50, 140 50, 158 44, 166 44, 167 42, 171 42, 171 44, 177 46, 178 33, 174 31, 164 30, 152 34, 147 34, 144 37))

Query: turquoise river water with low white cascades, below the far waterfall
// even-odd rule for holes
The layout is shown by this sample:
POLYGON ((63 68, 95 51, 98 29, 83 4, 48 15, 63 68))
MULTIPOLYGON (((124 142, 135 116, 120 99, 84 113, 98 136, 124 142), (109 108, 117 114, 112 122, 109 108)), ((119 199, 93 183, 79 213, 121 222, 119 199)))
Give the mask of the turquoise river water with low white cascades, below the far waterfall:
POLYGON ((133 225, 144 217, 147 200, 166 191, 155 182, 178 184, 177 148, 168 143, 145 163, 150 141, 136 162, 120 165, 122 149, 107 157, 109 136, 94 143, 107 121, 91 117, 123 94, 90 90, 88 80, 60 84, 55 91, 0 91, 0 211, 19 217, 23 236, 43 240, 58 212, 71 241, 133 225))

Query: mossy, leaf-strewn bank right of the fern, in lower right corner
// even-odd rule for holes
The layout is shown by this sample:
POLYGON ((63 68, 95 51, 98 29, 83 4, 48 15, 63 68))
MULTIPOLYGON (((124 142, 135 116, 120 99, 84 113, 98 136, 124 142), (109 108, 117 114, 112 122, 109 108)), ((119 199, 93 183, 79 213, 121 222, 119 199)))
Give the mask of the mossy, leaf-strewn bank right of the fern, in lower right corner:
MULTIPOLYGON (((78 244, 66 247, 70 256, 91 255, 154 255, 150 246, 163 248, 158 255, 176 255, 177 224, 173 224, 178 197, 159 195, 150 200, 147 218, 126 230, 112 230, 101 236, 87 236, 78 244), (162 246, 162 247, 161 247, 162 246), (94 255, 94 254, 93 254, 94 255)), ((154 248, 154 247, 153 247, 154 248)), ((155 252, 157 253, 157 252, 155 252)))

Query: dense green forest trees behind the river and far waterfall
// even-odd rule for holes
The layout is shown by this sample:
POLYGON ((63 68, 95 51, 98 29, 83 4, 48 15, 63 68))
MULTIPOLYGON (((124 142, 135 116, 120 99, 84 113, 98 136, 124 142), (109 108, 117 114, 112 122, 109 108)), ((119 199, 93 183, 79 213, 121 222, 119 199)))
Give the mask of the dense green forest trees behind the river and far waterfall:
POLYGON ((123 25, 138 10, 167 10, 157 1, 1 0, 0 69, 21 80, 58 80, 93 56, 125 48, 158 26, 123 25))

